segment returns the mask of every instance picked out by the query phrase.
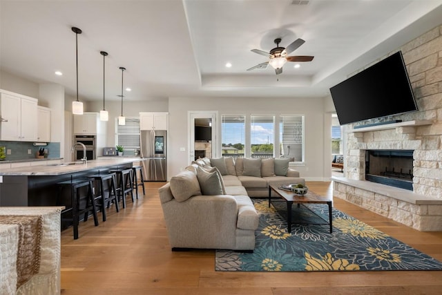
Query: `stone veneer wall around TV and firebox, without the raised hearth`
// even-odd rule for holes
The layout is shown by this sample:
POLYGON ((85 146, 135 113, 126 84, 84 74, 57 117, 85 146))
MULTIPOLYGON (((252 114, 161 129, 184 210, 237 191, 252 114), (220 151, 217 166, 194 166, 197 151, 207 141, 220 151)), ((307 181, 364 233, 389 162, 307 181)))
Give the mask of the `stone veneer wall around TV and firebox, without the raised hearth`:
POLYGON ((419 111, 392 118, 432 124, 347 133, 345 177, 365 180, 366 149, 410 149, 414 150, 413 191, 442 199, 442 25, 399 50, 419 111))

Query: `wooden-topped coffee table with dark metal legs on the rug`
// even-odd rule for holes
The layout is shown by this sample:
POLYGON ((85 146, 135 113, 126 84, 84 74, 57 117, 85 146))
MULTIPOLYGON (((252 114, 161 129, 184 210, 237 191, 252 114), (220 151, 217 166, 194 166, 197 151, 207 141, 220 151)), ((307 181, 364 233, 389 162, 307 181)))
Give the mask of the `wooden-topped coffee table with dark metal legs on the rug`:
MULTIPOLYGON (((329 225, 330 226, 330 234, 333 231, 332 227, 332 198, 319 196, 313 191, 307 191, 305 195, 296 195, 291 191, 286 191, 285 189, 279 189, 275 185, 269 185, 269 207, 271 205, 271 191, 274 191, 278 196, 280 196, 283 200, 285 200, 287 204, 287 232, 291 233, 291 205, 293 203, 298 204, 327 204, 329 207, 329 222, 328 223, 319 223, 320 225, 329 225)), ((318 214, 316 214, 318 215, 318 214)), ((318 216, 320 217, 320 216, 318 216)), ((322 217, 320 217, 323 219, 322 217)), ((327 220, 324 220, 327 222, 327 220)), ((315 223, 318 225, 318 223, 315 223)))

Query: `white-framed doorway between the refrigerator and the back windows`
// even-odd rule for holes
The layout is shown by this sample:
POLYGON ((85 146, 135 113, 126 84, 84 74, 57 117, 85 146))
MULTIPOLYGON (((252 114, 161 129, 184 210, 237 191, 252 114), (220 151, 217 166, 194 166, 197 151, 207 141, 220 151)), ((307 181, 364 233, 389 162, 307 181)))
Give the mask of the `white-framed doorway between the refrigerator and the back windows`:
POLYGON ((217 158, 215 111, 189 111, 189 164, 198 158, 217 158))

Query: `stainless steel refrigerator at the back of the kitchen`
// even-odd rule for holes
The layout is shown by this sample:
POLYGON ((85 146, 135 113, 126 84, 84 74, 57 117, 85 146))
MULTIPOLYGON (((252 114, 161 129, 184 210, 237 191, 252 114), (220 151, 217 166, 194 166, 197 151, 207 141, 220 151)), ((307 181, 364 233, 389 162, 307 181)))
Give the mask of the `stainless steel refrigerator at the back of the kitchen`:
POLYGON ((141 131, 140 136, 144 180, 166 181, 166 131, 141 131))

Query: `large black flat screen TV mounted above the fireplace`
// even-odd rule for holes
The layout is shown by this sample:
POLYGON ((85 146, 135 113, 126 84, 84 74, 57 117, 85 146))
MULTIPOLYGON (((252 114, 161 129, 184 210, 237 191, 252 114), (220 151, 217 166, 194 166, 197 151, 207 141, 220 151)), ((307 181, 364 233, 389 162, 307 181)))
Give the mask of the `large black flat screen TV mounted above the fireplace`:
POLYGON ((339 123, 417 111, 401 51, 330 88, 339 123))

